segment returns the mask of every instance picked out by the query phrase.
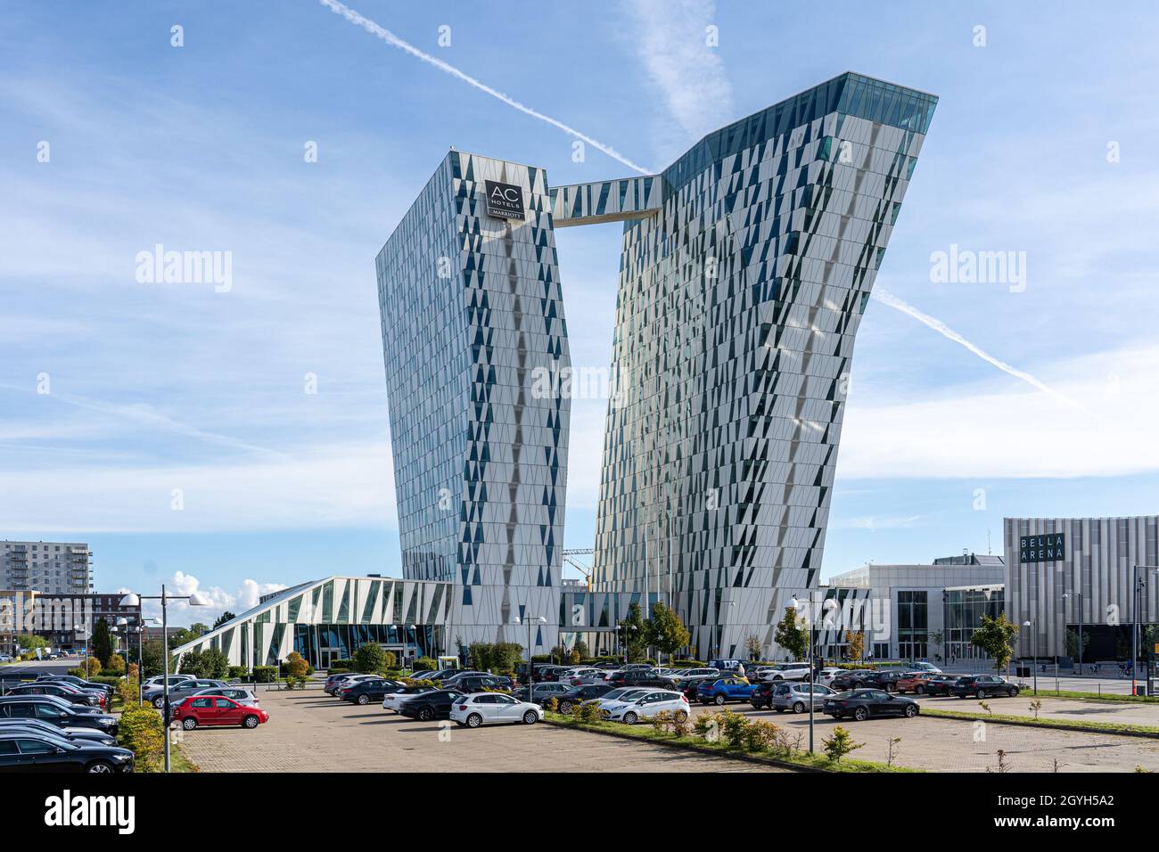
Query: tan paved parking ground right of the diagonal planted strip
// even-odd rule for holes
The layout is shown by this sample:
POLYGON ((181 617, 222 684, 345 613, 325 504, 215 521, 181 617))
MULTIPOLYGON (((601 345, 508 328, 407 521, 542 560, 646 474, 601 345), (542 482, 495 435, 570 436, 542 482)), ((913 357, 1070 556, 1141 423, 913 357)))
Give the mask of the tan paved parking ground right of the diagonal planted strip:
MULTIPOLYGON (((976 700, 931 698, 924 701, 930 706, 948 701, 945 705, 947 709, 978 709, 976 700)), ((1042 701, 1044 709, 1049 699, 1042 701)), ((1022 696, 989 701, 994 713, 1013 713, 1015 702, 1019 707, 1023 704, 1029 706, 1029 701, 1023 702, 1022 696)), ((793 736, 801 734, 802 743, 808 744, 808 714, 755 711, 748 704, 728 706, 732 711, 780 724, 793 736)), ((694 713, 712 709, 698 707, 694 713)), ((1011 772, 1054 772, 1056 769, 1059 772, 1132 772, 1136 765, 1159 771, 1159 740, 1012 724, 979 724, 948 719, 923 719, 920 715, 914 719, 869 719, 865 722, 846 719, 837 722, 826 715, 816 714, 814 738, 817 750, 822 749, 823 741, 837 724, 844 724, 853 735, 854 742, 865 743, 851 757, 885 762, 889 741, 899 737, 901 742, 894 745, 896 763, 930 772, 997 771, 999 750, 1004 752, 1004 766, 1011 772)))

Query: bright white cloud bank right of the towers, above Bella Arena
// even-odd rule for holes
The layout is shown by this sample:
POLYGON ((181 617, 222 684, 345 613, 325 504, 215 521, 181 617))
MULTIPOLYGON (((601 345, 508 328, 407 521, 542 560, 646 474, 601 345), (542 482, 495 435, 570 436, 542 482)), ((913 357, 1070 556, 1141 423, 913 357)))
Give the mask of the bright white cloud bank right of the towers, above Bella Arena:
POLYGON ((852 396, 837 474, 862 478, 1116 476, 1159 471, 1159 348, 1037 365, 1100 418, 1023 384, 943 388, 919 402, 852 396))

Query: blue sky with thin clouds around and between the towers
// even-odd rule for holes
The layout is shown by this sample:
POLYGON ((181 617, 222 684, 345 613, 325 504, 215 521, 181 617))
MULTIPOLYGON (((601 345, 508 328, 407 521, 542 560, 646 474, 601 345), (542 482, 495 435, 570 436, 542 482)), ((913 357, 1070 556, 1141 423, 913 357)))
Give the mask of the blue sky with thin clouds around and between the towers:
MULTIPOLYGON (((1000 552, 1004 516, 1157 510, 1151 5, 351 7, 656 170, 841 71, 938 94, 877 285, 960 340, 870 303, 824 574, 1000 552), (1025 253, 1025 289, 934 281, 950 246, 1025 253)), ((0 39, 0 538, 87 540, 99 588, 219 609, 396 574, 374 254, 452 145, 556 184, 633 170, 315 0, 20 5, 0 39), (139 282, 158 243, 229 252, 228 291, 139 282)), ((619 233, 556 234, 577 366, 607 363, 619 233)), ((573 547, 602 417, 574 406, 573 547)))

